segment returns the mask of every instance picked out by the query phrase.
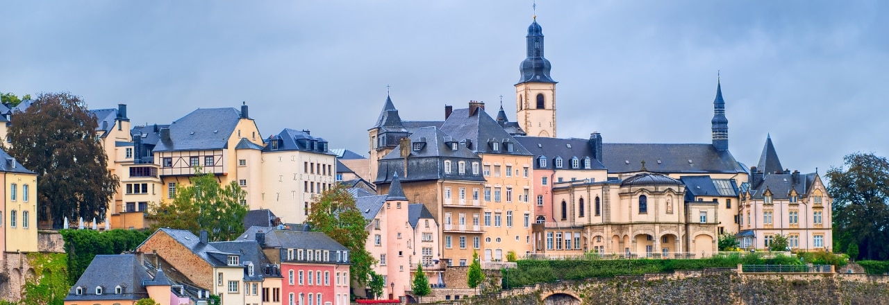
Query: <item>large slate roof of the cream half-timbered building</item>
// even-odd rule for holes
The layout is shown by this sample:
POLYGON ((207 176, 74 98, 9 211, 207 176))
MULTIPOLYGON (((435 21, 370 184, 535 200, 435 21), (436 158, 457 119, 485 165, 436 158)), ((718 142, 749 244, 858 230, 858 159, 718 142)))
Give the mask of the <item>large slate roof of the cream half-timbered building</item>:
POLYGON ((157 141, 155 152, 228 148, 241 112, 235 108, 198 108, 170 124, 170 141, 157 141))

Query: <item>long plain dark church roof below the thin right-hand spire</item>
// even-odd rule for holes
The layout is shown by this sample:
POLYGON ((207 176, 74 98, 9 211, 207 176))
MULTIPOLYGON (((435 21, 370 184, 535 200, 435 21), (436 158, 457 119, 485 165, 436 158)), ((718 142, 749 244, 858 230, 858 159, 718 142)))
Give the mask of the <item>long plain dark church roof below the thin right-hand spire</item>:
POLYGON ((731 152, 717 151, 710 144, 605 143, 602 151, 602 163, 609 173, 637 172, 643 160, 645 168, 658 173, 747 172, 731 152))

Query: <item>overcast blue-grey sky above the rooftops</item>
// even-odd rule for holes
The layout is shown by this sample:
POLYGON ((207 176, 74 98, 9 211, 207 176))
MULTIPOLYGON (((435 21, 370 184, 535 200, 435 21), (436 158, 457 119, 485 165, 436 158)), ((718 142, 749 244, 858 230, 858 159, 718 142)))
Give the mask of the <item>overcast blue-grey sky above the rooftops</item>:
POLYGON ((557 136, 709 143, 719 71, 729 147, 821 173, 889 155, 889 2, 8 1, 0 92, 68 91, 132 124, 250 106, 263 137, 309 129, 367 155, 387 90, 403 120, 503 96, 536 13, 557 136), (387 86, 390 86, 389 88, 387 86))

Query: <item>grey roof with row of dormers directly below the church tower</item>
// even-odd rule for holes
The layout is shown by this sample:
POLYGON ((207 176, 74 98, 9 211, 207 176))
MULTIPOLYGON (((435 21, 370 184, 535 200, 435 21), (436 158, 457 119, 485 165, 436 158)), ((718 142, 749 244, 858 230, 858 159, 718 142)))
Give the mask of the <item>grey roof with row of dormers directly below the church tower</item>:
MULTIPOLYGON (((583 170, 583 160, 589 158, 589 169, 605 169, 605 165, 596 159, 595 153, 589 144, 588 139, 582 138, 557 138, 557 137, 516 137, 519 143, 529 152, 534 154, 534 160, 545 157, 547 161, 546 168, 556 168, 555 160, 562 157, 563 166, 559 169, 579 169, 583 170), (580 168, 571 168, 571 159, 577 157, 580 161, 580 168)), ((540 162, 534 162, 534 168, 541 168, 540 162)), ((638 169, 638 168, 637 168, 638 169)))

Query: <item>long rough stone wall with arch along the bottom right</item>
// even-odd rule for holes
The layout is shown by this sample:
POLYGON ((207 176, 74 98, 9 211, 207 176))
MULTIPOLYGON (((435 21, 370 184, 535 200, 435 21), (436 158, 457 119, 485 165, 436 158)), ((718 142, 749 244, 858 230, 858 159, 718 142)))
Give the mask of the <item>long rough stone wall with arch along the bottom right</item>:
POLYGON ((539 284, 482 295, 470 304, 889 304, 889 277, 677 271, 539 284))

